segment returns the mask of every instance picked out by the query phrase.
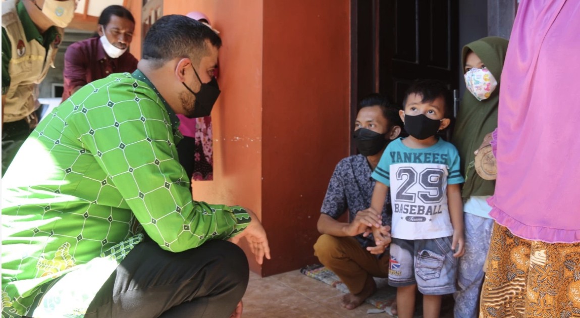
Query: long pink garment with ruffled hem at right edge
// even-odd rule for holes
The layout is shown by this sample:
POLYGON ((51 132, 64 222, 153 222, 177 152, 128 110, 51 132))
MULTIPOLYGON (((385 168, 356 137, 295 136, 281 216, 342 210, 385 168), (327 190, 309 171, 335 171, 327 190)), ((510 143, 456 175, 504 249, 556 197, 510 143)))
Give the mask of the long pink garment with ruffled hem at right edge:
POLYGON ((520 3, 502 73, 492 218, 547 243, 580 241, 580 1, 520 3))

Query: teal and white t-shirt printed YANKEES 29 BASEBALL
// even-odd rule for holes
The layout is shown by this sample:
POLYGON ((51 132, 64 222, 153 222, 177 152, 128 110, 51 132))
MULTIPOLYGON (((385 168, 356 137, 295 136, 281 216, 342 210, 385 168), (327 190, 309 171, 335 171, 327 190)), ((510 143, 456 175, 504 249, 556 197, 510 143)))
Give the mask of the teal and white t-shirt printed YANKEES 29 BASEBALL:
POLYGON ((398 138, 385 149, 372 178, 390 187, 393 237, 423 240, 453 234, 447 185, 464 179, 451 143, 439 139, 431 147, 412 149, 398 138))

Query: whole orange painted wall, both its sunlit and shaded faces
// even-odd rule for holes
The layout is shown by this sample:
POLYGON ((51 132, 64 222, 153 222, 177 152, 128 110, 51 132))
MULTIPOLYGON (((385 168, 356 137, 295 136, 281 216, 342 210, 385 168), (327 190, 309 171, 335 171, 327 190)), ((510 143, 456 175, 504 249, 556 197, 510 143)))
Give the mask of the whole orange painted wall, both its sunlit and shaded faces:
POLYGON ((215 180, 194 182, 194 197, 256 212, 273 259, 259 266, 248 255, 254 272, 314 263, 322 198, 349 154, 350 2, 164 1, 164 15, 193 10, 223 40, 222 94, 212 111, 215 180))

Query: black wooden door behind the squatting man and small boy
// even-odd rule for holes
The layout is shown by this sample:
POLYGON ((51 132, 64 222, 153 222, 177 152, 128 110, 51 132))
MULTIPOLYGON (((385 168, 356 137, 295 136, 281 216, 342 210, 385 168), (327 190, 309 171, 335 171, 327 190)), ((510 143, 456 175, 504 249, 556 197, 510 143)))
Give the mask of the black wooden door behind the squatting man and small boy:
POLYGON ((459 0, 353 0, 353 92, 400 105, 417 78, 458 88, 459 0))

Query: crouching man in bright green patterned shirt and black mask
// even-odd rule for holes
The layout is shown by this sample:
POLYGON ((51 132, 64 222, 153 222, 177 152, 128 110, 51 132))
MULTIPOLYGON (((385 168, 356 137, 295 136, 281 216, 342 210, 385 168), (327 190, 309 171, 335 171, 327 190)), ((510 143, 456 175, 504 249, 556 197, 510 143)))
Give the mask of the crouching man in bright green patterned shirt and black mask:
POLYGON ((185 16, 148 31, 133 74, 79 89, 2 179, 2 317, 239 317, 270 258, 247 208, 192 200, 177 114, 209 114, 221 39, 185 16), (34 161, 34 164, 30 164, 34 161), (138 222, 137 222, 138 221, 138 222))

